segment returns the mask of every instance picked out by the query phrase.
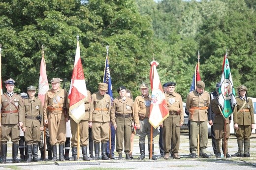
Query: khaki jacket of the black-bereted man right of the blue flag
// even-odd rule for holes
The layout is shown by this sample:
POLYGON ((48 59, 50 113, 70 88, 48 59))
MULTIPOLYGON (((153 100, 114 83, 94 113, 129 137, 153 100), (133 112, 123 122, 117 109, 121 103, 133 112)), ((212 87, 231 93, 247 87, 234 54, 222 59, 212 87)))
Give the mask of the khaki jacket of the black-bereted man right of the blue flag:
POLYGON ((116 124, 116 113, 117 114, 132 114, 133 100, 131 98, 126 98, 125 101, 119 96, 115 98, 113 106, 111 108, 111 122, 116 124))

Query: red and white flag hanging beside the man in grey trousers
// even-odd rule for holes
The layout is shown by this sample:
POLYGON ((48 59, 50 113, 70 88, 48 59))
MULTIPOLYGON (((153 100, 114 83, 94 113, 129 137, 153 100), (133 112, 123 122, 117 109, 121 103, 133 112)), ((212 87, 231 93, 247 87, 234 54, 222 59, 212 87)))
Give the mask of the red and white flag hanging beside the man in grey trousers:
POLYGON ((157 71, 158 62, 151 61, 150 85, 152 90, 149 122, 157 128, 161 122, 168 117, 169 111, 165 101, 165 95, 157 71))

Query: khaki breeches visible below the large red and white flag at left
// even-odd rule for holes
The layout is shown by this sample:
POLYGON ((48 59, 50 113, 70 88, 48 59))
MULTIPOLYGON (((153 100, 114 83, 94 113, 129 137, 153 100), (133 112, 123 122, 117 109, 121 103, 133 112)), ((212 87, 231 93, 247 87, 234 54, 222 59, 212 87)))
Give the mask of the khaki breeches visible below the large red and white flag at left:
MULTIPOLYGON (((77 147, 77 123, 74 120, 70 120, 70 126, 71 126, 71 146, 77 147)), ((89 138, 89 125, 88 120, 80 120, 79 122, 79 129, 80 129, 80 145, 81 146, 87 146, 88 144, 88 138, 89 138)))

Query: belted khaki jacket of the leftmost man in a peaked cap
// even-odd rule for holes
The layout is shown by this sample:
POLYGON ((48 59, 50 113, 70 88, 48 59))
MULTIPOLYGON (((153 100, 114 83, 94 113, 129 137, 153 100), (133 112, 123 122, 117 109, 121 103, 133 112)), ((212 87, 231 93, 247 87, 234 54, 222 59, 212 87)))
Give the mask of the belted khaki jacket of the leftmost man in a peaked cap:
POLYGON ((14 93, 12 97, 9 97, 7 94, 1 95, 1 103, 1 124, 18 124, 18 122, 24 123, 24 108, 22 98, 19 94, 14 93), (10 101, 11 103, 9 103, 10 101))

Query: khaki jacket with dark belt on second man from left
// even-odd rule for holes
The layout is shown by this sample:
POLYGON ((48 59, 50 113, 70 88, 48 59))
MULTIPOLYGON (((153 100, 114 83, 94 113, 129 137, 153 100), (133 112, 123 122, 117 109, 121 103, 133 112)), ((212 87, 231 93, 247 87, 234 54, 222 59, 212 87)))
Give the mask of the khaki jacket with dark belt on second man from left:
POLYGON ((24 99, 24 112, 25 112, 25 123, 22 127, 43 127, 43 106, 40 99, 34 97, 34 99, 24 99), (37 119, 37 116, 41 116, 41 123, 37 119), (26 118, 28 117, 28 118, 26 118))

